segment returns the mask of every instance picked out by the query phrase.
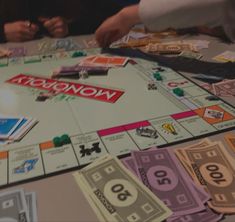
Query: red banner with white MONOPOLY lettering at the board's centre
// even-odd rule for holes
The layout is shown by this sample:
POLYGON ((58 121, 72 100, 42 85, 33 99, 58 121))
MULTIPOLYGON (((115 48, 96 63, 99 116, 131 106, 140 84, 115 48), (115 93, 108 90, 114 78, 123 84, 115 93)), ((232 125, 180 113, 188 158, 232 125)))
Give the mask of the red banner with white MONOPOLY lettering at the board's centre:
POLYGON ((79 96, 108 103, 115 103, 124 94, 124 91, 121 90, 102 88, 81 83, 63 82, 55 79, 47 79, 24 74, 14 76, 6 82, 41 90, 56 91, 71 96, 79 96))

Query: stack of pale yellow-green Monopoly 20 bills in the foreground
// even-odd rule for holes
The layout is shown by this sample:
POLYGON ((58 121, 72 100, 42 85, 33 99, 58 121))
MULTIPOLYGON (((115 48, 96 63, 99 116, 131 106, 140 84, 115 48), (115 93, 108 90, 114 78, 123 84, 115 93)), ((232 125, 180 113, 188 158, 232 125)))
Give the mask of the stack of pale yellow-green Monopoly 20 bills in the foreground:
POLYGON ((115 157, 74 173, 100 221, 163 221, 171 211, 115 157))

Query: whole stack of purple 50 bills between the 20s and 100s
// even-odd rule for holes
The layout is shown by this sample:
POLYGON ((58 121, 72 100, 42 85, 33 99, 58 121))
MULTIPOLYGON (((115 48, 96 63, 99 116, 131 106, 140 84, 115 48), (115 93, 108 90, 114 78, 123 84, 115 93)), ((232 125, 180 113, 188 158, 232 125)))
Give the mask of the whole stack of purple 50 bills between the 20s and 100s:
POLYGON ((222 218, 222 214, 214 213, 207 206, 210 195, 192 181, 172 149, 134 151, 122 162, 172 210, 167 221, 222 218))

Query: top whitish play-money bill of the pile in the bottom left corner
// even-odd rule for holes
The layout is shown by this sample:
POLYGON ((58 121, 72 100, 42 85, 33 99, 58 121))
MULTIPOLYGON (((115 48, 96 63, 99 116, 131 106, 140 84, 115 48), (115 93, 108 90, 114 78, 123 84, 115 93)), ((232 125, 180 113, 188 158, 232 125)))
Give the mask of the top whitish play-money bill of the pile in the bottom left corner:
POLYGON ((29 222, 29 215, 22 189, 0 193, 0 222, 29 222))

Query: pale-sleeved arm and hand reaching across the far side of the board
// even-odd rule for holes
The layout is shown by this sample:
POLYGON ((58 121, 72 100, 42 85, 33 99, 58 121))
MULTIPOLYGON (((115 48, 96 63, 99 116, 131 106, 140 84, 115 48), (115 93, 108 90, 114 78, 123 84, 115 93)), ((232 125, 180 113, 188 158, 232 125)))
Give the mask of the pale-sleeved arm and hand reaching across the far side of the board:
POLYGON ((141 0, 105 20, 96 30, 96 40, 107 47, 138 23, 150 31, 208 26, 210 29, 202 31, 213 33, 214 27, 222 26, 230 40, 235 41, 235 1, 141 0))

